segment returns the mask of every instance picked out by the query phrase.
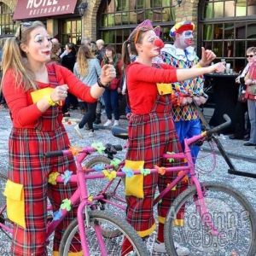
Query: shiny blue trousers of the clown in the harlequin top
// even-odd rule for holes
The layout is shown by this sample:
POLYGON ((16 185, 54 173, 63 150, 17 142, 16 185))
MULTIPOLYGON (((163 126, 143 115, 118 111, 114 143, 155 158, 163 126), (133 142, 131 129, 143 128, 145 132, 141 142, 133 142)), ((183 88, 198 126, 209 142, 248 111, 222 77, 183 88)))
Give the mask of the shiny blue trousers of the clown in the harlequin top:
MULTIPOLYGON (((174 124, 176 127, 179 141, 182 144, 183 150, 184 150, 184 139, 185 138, 189 138, 189 137, 193 137, 195 135, 201 134, 200 119, 192 119, 189 121, 180 120, 180 121, 174 122, 174 124)), ((195 160, 196 160, 197 154, 199 153, 200 147, 194 145, 189 148, 191 150, 193 163, 195 164, 195 160)))

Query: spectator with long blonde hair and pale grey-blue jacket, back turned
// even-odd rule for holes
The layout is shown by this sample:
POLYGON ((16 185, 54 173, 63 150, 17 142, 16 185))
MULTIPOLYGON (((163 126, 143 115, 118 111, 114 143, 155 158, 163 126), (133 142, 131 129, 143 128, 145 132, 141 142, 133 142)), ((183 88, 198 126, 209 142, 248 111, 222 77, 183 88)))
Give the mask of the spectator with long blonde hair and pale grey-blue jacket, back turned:
MULTIPOLYGON (((96 83, 98 77, 101 76, 102 67, 99 61, 91 54, 90 48, 82 45, 79 47, 77 62, 74 65, 73 73, 81 80, 84 84, 93 85, 96 83)), ((93 121, 96 115, 97 102, 87 103, 88 111, 84 113, 83 119, 78 125, 74 126, 74 130, 77 132, 80 138, 83 138, 81 129, 87 123, 89 127, 89 137, 94 136, 93 121)))

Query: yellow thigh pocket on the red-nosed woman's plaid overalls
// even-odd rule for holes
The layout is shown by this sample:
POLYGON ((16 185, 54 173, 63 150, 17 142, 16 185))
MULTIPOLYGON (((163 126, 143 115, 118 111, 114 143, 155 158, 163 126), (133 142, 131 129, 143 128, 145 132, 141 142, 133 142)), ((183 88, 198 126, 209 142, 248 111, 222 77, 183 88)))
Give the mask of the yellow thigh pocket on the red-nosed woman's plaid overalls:
MULTIPOLYGON (((143 168, 144 162, 145 161, 125 160, 125 167, 131 168, 133 171, 139 171, 140 168, 143 168)), ((125 195, 133 195, 138 198, 144 198, 143 178, 143 174, 125 177, 125 195)))

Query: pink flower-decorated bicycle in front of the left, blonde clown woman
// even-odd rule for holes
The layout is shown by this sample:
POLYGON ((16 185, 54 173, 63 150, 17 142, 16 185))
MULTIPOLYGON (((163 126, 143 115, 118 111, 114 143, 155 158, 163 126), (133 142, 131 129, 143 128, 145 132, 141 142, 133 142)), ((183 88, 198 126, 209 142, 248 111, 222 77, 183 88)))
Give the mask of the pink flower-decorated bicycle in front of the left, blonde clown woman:
MULTIPOLYGON (((104 148, 103 148, 104 149, 104 148)), ((94 173, 86 175, 81 162, 86 155, 96 152, 96 148, 80 148, 74 154, 74 151, 63 150, 57 152, 48 152, 45 157, 57 157, 65 154, 74 154, 77 160, 77 175, 65 173, 64 177, 51 177, 56 183, 78 183, 78 189, 71 198, 65 199, 61 208, 57 212, 50 213, 49 206, 49 223, 47 227, 47 237, 49 237, 65 218, 67 212, 76 204, 79 204, 78 217, 67 227, 61 239, 59 255, 119 255, 120 248, 126 237, 133 245, 136 255, 149 255, 148 249, 143 243, 137 232, 126 223, 125 219, 119 218, 112 212, 98 210, 99 203, 103 199, 102 195, 91 196, 88 194, 87 181, 90 179, 101 179, 106 177, 103 173, 94 173), (116 236, 118 230, 119 236, 116 236), (75 244, 75 246, 73 246, 75 244)), ((69 171, 67 171, 69 172, 69 171)), ((125 173, 119 172, 117 177, 125 176, 125 173)), ((51 181, 51 182, 52 182, 51 181)), ((0 238, 2 242, 1 255, 11 255, 10 245, 12 238, 12 223, 9 221, 6 213, 6 199, 3 196, 3 189, 7 177, 0 174, 0 238), (4 245, 4 246, 3 246, 4 245), (3 253, 3 254, 2 254, 3 253)), ((46 241, 49 243, 49 240, 46 241)), ((129 252, 127 252, 128 255, 129 252)))

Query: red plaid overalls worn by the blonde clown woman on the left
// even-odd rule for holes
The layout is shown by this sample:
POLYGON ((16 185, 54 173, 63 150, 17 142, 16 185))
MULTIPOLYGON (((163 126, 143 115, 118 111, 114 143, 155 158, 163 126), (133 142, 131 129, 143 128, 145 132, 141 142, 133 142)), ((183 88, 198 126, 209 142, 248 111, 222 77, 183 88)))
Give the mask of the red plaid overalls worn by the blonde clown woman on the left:
MULTIPOLYGON (((50 87, 58 85, 55 70, 48 66, 50 87)), ((9 137, 9 173, 15 183, 24 185, 26 229, 14 225, 12 255, 47 256, 46 224, 47 196, 53 211, 59 209, 61 201, 69 198, 77 188, 76 183, 51 185, 50 172, 75 172, 73 156, 44 158, 47 151, 68 148, 69 139, 61 123, 61 107, 55 105, 45 111, 34 128, 13 128, 9 137)), ((61 236, 67 225, 76 216, 77 208, 68 212, 67 218, 55 230, 54 251, 58 251, 61 236)))

